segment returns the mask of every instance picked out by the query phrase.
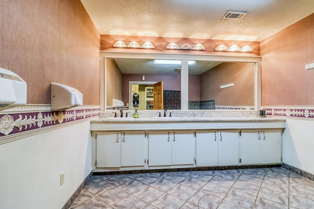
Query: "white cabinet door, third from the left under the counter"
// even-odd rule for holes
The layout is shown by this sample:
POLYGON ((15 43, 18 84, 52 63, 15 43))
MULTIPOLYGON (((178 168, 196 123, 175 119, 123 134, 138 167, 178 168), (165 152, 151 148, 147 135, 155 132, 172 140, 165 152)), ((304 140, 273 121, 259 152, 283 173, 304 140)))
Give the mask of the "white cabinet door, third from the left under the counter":
POLYGON ((171 165, 170 131, 149 131, 148 165, 171 165))

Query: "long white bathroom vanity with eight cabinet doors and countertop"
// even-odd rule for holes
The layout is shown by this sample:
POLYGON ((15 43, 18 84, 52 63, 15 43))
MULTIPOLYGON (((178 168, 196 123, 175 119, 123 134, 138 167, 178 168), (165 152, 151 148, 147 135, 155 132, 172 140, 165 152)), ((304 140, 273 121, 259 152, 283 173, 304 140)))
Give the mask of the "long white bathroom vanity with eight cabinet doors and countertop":
POLYGON ((98 118, 93 172, 281 164, 284 129, 268 117, 98 118))

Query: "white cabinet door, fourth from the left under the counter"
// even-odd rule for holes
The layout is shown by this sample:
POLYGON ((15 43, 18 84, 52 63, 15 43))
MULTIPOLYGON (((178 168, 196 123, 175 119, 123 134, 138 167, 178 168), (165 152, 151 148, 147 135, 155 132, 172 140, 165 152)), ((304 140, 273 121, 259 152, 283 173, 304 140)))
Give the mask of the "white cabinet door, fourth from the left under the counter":
POLYGON ((171 164, 193 165, 195 159, 194 131, 171 131, 171 164))

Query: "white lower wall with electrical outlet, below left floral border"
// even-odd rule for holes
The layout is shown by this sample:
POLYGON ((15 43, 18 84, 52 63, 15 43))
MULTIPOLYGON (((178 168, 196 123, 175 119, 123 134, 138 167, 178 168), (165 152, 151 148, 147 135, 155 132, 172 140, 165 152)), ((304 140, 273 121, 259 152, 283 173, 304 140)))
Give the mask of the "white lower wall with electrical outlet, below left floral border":
POLYGON ((85 121, 0 145, 0 208, 62 208, 92 170, 89 127, 85 121))

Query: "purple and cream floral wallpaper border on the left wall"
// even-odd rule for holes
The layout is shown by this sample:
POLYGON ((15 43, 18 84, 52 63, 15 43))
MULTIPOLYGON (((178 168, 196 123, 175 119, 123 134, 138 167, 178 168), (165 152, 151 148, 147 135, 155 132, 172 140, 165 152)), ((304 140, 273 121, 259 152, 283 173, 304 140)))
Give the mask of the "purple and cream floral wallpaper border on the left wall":
POLYGON ((16 112, 14 110, 0 112, 0 144, 15 140, 10 137, 26 133, 26 131, 42 131, 57 125, 99 116, 100 108, 93 107, 80 106, 75 109, 51 111, 38 106, 38 108, 35 107, 35 109, 39 109, 38 111, 34 107, 26 107, 23 108, 23 111, 19 109, 16 112))

